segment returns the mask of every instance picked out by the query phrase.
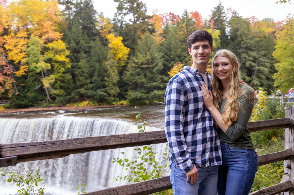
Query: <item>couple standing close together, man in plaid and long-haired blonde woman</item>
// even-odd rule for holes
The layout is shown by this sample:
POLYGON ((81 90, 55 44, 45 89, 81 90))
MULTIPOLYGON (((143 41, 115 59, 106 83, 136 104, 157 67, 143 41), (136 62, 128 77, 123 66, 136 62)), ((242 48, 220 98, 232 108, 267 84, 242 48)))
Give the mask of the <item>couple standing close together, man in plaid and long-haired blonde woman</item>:
POLYGON ((248 194, 257 154, 248 129, 254 91, 239 84, 239 64, 229 50, 216 52, 212 78, 206 72, 212 36, 197 30, 188 38, 193 59, 167 84, 165 129, 173 194, 248 194))

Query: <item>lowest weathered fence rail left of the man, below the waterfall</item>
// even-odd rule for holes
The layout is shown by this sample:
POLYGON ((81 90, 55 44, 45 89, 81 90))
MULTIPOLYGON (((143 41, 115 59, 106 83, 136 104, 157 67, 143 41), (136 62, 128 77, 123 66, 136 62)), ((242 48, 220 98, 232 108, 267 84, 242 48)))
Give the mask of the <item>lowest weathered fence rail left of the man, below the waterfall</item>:
POLYGON ((84 193, 84 195, 134 195, 134 194, 152 194, 158 191, 171 189, 169 176, 150 179, 143 182, 128 184, 124 186, 111 187, 99 191, 84 193))

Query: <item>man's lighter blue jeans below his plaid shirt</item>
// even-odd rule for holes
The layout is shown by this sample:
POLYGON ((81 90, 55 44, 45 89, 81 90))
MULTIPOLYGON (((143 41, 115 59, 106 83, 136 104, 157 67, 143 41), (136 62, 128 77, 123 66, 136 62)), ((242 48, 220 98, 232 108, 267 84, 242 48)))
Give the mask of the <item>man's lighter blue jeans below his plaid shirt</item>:
POLYGON ((216 195, 218 165, 201 168, 196 165, 199 177, 195 184, 186 182, 187 176, 175 162, 171 164, 170 180, 174 195, 216 195))

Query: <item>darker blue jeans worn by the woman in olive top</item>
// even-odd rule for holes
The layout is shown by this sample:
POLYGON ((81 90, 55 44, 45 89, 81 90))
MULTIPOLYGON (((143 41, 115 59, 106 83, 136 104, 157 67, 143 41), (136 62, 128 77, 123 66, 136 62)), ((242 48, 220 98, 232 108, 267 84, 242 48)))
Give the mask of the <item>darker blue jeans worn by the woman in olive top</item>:
POLYGON ((220 143, 223 165, 218 169, 218 195, 248 195, 257 171, 255 150, 220 143))

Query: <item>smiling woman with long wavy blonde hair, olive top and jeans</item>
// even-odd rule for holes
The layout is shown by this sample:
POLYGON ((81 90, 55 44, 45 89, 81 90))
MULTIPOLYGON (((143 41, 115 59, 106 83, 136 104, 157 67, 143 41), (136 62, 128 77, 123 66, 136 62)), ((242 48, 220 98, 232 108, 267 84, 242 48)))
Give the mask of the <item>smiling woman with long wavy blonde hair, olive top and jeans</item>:
POLYGON ((239 84, 239 64, 233 52, 221 49, 213 58, 213 94, 206 84, 201 93, 211 112, 220 138, 223 165, 218 170, 218 195, 249 194, 257 154, 246 129, 253 109, 254 90, 239 84))

